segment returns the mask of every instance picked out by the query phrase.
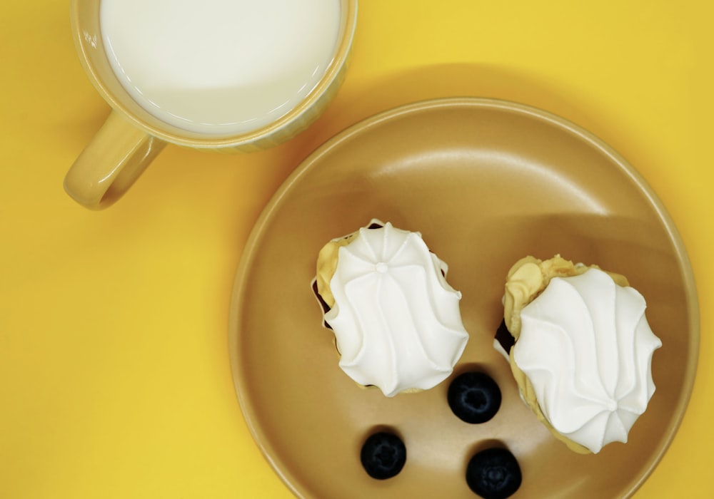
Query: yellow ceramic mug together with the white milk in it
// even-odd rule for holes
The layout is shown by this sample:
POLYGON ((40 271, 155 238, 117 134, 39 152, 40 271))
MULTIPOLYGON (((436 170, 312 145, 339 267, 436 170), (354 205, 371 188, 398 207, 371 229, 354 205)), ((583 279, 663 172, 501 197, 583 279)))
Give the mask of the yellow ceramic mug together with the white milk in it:
POLYGON ((79 58, 111 113, 65 190, 101 209, 167 143, 262 150, 301 132, 341 85, 357 0, 72 0, 79 58))

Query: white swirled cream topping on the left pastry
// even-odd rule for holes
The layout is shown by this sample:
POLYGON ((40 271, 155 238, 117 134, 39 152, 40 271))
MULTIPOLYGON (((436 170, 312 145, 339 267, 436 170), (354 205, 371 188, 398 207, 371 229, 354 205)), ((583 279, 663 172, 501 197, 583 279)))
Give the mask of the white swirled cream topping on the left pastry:
POLYGON ((446 379, 466 347, 461 293, 446 282, 447 265, 418 232, 387 222, 361 228, 339 247, 325 314, 340 367, 386 396, 430 389, 446 379))

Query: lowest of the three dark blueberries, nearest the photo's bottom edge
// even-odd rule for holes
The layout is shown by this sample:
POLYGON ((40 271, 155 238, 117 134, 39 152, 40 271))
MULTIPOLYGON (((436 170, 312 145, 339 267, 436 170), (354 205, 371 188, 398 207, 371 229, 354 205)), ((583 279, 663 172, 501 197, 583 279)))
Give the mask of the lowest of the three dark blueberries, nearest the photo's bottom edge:
POLYGON ((521 486, 521 467, 511 451, 500 447, 476 453, 466 466, 466 483, 484 499, 506 499, 521 486))

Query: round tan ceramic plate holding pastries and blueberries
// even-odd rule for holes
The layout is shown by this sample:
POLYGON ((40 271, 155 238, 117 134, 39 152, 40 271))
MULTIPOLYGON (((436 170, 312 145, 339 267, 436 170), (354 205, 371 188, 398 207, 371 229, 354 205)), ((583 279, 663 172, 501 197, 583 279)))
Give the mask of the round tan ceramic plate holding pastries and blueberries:
POLYGON ((650 473, 680 423, 698 350, 698 304, 685 249, 650 187, 623 158, 575 125, 482 99, 416 103, 328 141, 278 190, 243 254, 230 324, 233 378, 258 446, 305 498, 475 498, 468 458, 499 443, 521 463, 516 497, 625 497, 650 473), (372 217, 420 231, 449 265, 471 334, 456 367, 483 369, 503 391, 488 423, 446 403, 447 379, 385 398, 338 368, 311 291, 318 250, 372 217), (580 456, 521 402, 491 344, 508 268, 555 253, 625 274, 648 300, 663 340, 657 385, 627 444, 580 456), (406 443, 402 472, 373 480, 359 451, 376 428, 406 443))

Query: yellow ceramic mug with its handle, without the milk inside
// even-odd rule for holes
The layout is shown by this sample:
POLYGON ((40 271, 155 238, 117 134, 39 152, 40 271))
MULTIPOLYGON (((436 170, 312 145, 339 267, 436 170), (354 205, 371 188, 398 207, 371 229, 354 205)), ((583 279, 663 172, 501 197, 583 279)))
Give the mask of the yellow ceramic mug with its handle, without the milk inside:
POLYGON ((111 113, 69 169, 64 189, 79 204, 101 210, 124 195, 166 143, 251 152, 293 138, 323 113, 345 78, 356 29, 357 1, 340 0, 340 27, 333 57, 324 76, 301 103, 261 128, 217 137, 166 123, 134 101, 114 74, 104 50, 99 21, 101 0, 72 0, 72 34, 80 61, 96 90, 111 106, 111 113))

